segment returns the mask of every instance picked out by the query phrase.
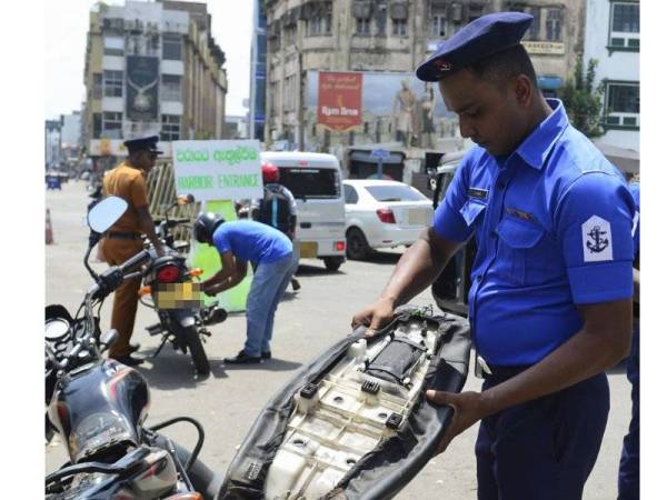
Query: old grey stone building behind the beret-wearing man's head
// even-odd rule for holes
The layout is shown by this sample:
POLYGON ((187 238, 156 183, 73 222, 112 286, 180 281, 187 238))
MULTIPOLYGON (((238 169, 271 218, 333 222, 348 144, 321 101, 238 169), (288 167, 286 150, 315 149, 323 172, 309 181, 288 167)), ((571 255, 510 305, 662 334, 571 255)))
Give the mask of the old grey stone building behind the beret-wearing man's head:
POLYGON ((525 11, 535 22, 524 46, 542 92, 554 94, 584 50, 585 7, 584 0, 267 0, 265 141, 331 152, 397 141, 406 149, 460 149, 456 116, 444 108, 437 87, 415 79, 417 66, 469 21, 500 10, 525 11), (364 73, 364 117, 355 130, 318 126, 322 71, 364 73), (414 107, 407 140, 396 111, 406 102, 414 107))

